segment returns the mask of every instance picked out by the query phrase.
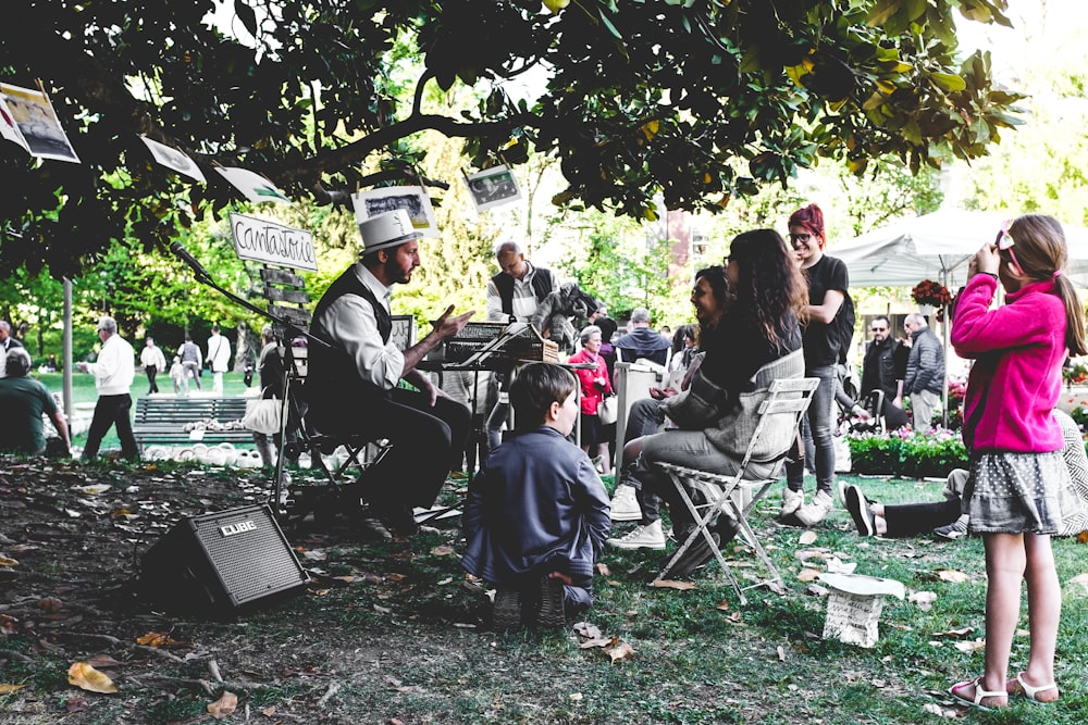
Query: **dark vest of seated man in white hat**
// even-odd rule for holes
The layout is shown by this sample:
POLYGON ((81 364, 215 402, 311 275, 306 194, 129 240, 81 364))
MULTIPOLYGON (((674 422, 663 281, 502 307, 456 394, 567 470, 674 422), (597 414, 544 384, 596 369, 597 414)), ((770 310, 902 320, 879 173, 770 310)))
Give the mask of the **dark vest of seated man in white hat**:
MULTIPOLYGON (((329 286, 313 310, 313 318, 322 318, 329 307, 345 295, 356 295, 370 302, 374 309, 382 343, 387 343, 393 332, 393 321, 374 293, 356 276, 355 267, 349 267, 329 286)), ((326 348, 323 345, 313 345, 309 348, 306 398, 311 403, 320 405, 331 402, 338 405, 359 399, 384 398, 386 395, 387 391, 379 390, 370 383, 363 382, 356 368, 355 360, 344 350, 326 348)))

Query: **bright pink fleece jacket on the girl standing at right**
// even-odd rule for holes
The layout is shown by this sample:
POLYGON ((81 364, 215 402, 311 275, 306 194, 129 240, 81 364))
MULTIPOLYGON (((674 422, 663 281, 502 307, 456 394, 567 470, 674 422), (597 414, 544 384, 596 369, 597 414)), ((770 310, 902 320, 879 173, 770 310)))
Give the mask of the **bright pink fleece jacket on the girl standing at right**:
POLYGON ((977 274, 956 303, 952 347, 973 358, 964 400, 963 440, 973 452, 1061 450, 1051 411, 1062 388, 1065 305, 1053 282, 1035 282, 990 310, 998 280, 977 274))

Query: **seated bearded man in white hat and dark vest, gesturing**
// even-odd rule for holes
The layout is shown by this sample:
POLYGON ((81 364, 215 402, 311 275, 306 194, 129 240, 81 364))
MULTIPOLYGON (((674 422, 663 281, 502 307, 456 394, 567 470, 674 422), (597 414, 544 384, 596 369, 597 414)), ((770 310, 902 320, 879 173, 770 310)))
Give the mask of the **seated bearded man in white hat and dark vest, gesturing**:
MULTIPOLYGON (((460 458, 469 410, 416 370, 423 357, 457 335, 472 312, 449 305, 434 328, 404 352, 391 342, 391 292, 420 265, 422 234, 398 209, 359 224, 360 259, 318 302, 310 332, 332 348, 310 346, 308 420, 324 433, 386 438, 391 450, 356 485, 372 511, 400 533, 415 530, 413 505, 430 507, 460 458), (405 379, 419 392, 397 387, 405 379)), ((353 488, 353 487, 349 487, 353 488)))

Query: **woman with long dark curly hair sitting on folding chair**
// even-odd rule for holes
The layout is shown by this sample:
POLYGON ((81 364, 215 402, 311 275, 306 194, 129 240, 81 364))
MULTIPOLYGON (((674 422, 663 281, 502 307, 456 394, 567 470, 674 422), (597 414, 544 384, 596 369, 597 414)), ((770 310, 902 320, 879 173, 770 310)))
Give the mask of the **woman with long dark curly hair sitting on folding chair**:
MULTIPOLYGON (((655 498, 660 497, 669 504, 677 540, 684 540, 695 522, 670 479, 654 464, 667 462, 716 474, 735 473, 749 446, 749 437, 742 432, 754 428, 752 411, 758 408, 742 407, 742 397, 746 402, 757 402, 766 397, 771 380, 804 374, 800 318, 807 291, 792 257, 774 229, 745 232, 733 239, 725 268, 728 303, 718 315, 706 315, 705 320, 700 315, 703 363, 687 390, 662 401, 665 414, 679 427, 638 441, 641 455, 633 476, 641 483, 640 528, 660 527, 655 498)), ((701 277, 692 292, 696 314, 710 296, 707 278, 701 277)), ((772 475, 794 439, 790 425, 774 425, 764 434, 754 462, 749 464, 755 476, 772 475)), ((733 522, 725 516, 719 516, 712 528, 719 546, 734 534, 733 522)), ((678 576, 689 574, 713 555, 700 537, 672 571, 678 576)))

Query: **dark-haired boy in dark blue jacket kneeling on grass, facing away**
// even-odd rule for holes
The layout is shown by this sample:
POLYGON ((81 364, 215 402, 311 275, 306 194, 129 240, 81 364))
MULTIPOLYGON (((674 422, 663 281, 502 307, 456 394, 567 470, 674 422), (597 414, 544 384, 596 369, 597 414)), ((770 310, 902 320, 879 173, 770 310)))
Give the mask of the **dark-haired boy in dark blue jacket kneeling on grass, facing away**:
POLYGON ((567 440, 577 387, 558 365, 522 368, 510 386, 517 435, 469 486, 461 566, 495 585, 496 629, 560 627, 593 603, 593 564, 611 518, 597 472, 567 440))

